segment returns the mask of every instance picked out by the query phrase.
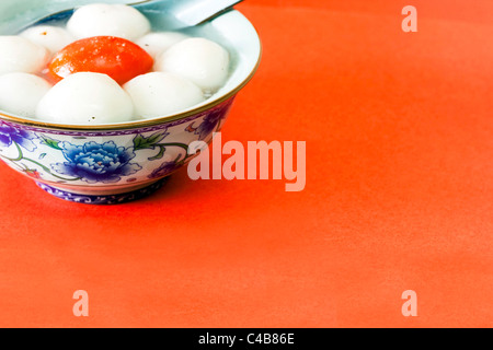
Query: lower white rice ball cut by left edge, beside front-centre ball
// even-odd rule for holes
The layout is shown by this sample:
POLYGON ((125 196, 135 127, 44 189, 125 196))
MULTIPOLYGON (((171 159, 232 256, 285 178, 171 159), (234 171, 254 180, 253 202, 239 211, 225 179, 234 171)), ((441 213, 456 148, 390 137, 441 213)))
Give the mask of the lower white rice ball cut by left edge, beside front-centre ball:
POLYGON ((41 77, 14 72, 0 75, 0 109, 33 118, 42 97, 51 84, 41 77))

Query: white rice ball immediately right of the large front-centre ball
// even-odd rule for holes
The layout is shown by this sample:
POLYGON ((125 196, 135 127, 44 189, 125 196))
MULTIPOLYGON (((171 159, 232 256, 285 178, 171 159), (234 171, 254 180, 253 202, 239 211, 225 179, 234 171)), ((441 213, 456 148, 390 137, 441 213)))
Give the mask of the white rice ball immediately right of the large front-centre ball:
POLYGON ((204 101, 202 90, 191 81, 164 72, 134 78, 124 85, 139 117, 152 118, 184 110, 204 101))

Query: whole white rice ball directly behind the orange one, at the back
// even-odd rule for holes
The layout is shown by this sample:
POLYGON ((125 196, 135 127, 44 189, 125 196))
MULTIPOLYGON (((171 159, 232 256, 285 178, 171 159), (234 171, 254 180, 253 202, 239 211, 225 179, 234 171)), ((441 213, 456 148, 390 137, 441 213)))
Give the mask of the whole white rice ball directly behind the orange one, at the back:
POLYGON ((72 14, 67 28, 77 38, 118 36, 136 40, 150 32, 149 20, 136 9, 125 4, 92 3, 72 14))

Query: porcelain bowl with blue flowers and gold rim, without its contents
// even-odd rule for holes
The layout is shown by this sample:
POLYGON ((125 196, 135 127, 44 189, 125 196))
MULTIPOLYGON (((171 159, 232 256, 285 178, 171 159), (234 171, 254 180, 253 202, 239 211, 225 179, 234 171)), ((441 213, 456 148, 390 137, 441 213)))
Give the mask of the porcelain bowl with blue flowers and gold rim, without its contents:
MULTIPOLYGON (((0 20, 1 35, 12 34, 5 30, 12 28, 5 25, 10 20, 22 23, 11 9, 0 12, 0 20)), ((70 201, 119 203, 157 190, 194 156, 188 144, 209 143, 221 129, 234 96, 260 62, 259 35, 240 12, 227 12, 194 30, 231 54, 231 75, 213 97, 176 115, 101 126, 55 125, 0 110, 0 159, 70 201)))

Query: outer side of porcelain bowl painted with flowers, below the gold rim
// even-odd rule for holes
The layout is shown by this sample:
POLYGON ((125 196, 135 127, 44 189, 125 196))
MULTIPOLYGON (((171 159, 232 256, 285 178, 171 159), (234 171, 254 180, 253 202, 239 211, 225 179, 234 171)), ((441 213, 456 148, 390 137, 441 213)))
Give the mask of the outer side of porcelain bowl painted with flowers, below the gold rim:
POLYGON ((142 189, 149 186, 158 189, 160 179, 187 164, 195 156, 187 152, 190 143, 210 142, 233 100, 184 119, 136 129, 72 131, 0 120, 0 159, 66 200, 128 201, 139 198, 136 191, 147 194, 142 189))

